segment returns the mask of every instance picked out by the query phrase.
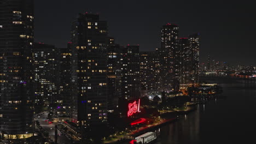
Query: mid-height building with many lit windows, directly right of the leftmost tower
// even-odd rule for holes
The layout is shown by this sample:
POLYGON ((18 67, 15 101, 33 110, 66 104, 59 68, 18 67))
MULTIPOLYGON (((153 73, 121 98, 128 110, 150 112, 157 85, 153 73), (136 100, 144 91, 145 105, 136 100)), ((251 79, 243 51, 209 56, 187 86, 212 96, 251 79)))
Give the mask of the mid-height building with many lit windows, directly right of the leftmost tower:
POLYGON ((55 109, 58 94, 57 50, 54 45, 34 44, 34 92, 36 112, 55 109))

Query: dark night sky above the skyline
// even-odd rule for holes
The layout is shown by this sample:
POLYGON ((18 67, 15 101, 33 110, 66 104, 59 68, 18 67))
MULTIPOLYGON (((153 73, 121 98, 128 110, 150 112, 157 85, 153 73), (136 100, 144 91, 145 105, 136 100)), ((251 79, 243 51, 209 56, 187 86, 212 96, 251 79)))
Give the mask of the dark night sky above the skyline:
POLYGON ((255 65, 256 14, 253 1, 111 1, 35 0, 35 39, 66 47, 78 13, 99 13, 108 21, 115 43, 139 44, 142 51, 160 47, 160 28, 179 25, 180 37, 201 34, 200 57, 255 65))

